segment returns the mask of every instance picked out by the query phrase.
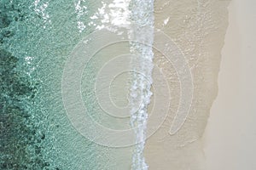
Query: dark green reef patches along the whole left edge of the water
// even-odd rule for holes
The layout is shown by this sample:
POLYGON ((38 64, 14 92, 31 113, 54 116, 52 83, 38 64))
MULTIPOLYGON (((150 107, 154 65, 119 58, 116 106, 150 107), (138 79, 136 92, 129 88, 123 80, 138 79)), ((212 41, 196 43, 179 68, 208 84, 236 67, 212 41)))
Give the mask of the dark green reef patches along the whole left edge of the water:
POLYGON ((50 169, 42 154, 45 134, 30 118, 38 84, 18 69, 21 61, 1 47, 15 35, 9 29, 12 22, 25 19, 23 3, 0 2, 0 169, 50 169))

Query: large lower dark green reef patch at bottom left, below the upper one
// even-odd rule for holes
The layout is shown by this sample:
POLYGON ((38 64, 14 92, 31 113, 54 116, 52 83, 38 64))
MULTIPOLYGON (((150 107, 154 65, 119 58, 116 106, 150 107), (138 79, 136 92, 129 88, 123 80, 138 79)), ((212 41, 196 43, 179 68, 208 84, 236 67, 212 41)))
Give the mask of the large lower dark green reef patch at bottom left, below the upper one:
POLYGON ((0 49, 0 169, 43 169, 40 143, 44 133, 38 133, 27 103, 32 102, 36 88, 17 71, 18 59, 0 49))

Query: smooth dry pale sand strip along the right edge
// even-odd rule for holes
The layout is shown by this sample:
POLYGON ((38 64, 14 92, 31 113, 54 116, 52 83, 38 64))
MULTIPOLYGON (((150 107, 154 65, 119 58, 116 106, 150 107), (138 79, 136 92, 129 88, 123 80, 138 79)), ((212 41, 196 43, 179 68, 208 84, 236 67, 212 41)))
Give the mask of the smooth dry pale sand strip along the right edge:
POLYGON ((233 0, 204 150, 207 170, 256 168, 256 2, 233 0))

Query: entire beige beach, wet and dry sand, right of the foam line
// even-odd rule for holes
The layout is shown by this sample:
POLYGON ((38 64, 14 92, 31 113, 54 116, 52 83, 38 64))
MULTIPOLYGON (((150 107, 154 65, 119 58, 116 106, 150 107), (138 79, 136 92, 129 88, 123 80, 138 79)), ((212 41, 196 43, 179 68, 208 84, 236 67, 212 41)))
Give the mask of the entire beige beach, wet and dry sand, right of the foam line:
POLYGON ((253 0, 209 2, 155 1, 155 26, 173 37, 183 50, 191 66, 195 89, 186 122, 178 133, 170 135, 180 87, 174 68, 162 62, 161 54, 155 53, 155 63, 169 77, 172 109, 160 129, 147 140, 144 153, 148 169, 256 168, 253 161, 256 151, 253 8, 256 3, 253 0), (206 31, 209 34, 204 37, 206 31))

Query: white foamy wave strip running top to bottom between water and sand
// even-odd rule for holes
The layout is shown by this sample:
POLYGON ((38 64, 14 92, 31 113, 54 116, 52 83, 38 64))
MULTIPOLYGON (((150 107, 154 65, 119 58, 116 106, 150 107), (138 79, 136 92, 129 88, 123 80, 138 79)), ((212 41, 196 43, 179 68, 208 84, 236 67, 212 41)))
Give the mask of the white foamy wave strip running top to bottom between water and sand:
POLYGON ((154 42, 154 0, 131 0, 131 54, 137 58, 131 61, 133 83, 131 101, 134 105, 140 102, 137 111, 131 110, 131 127, 137 127, 137 145, 132 156, 132 169, 148 169, 143 156, 146 140, 148 105, 152 92, 150 91, 153 71, 153 42, 154 42))

